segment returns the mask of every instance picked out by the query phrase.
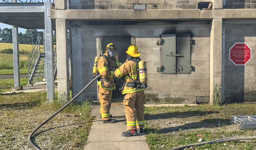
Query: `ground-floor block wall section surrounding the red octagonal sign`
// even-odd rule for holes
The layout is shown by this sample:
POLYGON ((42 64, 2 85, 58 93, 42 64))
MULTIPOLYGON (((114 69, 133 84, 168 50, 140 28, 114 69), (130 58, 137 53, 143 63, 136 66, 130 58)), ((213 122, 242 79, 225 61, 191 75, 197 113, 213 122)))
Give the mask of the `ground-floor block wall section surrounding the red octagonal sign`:
POLYGON ((225 91, 226 101, 256 102, 256 24, 224 24, 225 26, 225 91), (252 48, 252 60, 245 66, 235 66, 229 60, 229 49, 236 42, 246 42, 252 48))

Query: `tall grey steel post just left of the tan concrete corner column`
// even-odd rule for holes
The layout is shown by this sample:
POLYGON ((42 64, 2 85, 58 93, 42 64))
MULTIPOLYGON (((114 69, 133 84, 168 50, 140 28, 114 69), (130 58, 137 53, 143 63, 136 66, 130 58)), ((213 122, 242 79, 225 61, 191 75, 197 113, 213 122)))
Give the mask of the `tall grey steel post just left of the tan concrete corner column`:
POLYGON ((45 29, 45 52, 46 52, 46 83, 47 83, 47 100, 54 99, 54 61, 53 61, 53 34, 52 20, 50 18, 51 2, 44 2, 44 29, 45 29))

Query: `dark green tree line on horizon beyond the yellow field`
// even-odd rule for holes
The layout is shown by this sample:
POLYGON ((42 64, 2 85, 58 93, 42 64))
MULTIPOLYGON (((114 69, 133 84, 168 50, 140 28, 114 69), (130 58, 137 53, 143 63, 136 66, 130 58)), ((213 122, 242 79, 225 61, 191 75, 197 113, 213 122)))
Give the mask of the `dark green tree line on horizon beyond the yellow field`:
MULTIPOLYGON (((43 37, 44 33, 42 31, 37 30, 26 30, 23 34, 20 32, 19 36, 19 44, 36 44, 36 40, 39 36, 43 37)), ((53 37, 56 37, 56 33, 54 32, 53 37)), ((3 30, 0 28, 0 42, 1 43, 12 43, 12 29, 4 28, 3 30)), ((56 38, 53 39, 53 42, 56 42, 56 38)), ((40 42, 40 44, 43 44, 40 42)))

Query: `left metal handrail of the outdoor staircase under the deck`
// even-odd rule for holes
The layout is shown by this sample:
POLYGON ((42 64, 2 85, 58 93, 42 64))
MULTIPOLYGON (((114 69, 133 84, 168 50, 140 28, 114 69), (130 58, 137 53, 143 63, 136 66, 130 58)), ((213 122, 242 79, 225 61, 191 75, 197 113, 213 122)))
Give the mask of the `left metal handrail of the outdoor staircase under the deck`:
POLYGON ((30 75, 33 73, 31 70, 33 70, 34 67, 36 67, 36 61, 38 59, 38 56, 40 55, 40 43, 44 43, 44 38, 43 37, 38 37, 36 40, 36 44, 28 57, 28 78, 30 75))

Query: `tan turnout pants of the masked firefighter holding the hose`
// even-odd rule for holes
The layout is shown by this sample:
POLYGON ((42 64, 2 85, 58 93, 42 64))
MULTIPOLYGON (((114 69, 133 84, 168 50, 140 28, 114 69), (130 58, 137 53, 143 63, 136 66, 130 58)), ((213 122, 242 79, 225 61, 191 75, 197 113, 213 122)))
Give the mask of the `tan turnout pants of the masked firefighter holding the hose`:
POLYGON ((99 86, 100 113, 102 120, 109 120, 111 107, 112 90, 106 90, 99 86))

